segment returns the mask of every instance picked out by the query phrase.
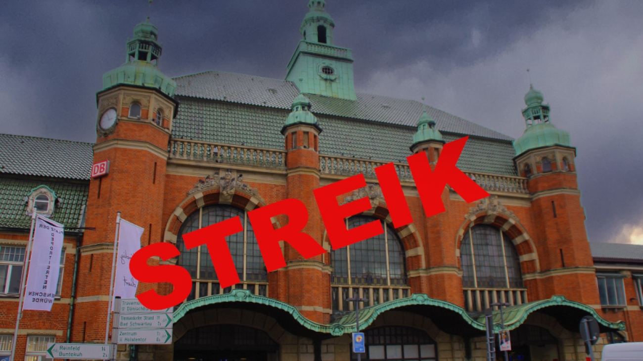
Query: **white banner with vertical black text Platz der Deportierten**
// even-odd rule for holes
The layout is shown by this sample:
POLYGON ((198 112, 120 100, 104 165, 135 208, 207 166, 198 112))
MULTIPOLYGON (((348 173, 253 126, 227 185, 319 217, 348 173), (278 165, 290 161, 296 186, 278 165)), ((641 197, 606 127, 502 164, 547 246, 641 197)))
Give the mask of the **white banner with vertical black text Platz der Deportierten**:
POLYGON ((62 224, 36 216, 23 310, 51 311, 58 286, 64 231, 62 224))

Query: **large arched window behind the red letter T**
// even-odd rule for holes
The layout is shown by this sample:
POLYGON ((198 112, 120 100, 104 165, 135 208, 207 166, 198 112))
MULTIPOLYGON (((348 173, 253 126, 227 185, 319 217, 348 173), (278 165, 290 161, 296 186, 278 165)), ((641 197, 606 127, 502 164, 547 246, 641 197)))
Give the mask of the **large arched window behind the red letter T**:
POLYGON ((240 283, 235 285, 235 288, 243 288, 253 294, 267 296, 266 266, 246 212, 232 206, 216 205, 203 207, 195 211, 185 219, 181 229, 179 229, 176 246, 181 255, 179 255, 177 265, 184 267, 192 276, 192 293, 188 297, 188 301, 208 295, 228 293, 232 288, 221 289, 219 286, 208 247, 201 245, 189 250, 186 249, 185 243, 183 243, 183 234, 235 216, 239 216, 244 227, 243 232, 232 234, 226 238, 232 260, 241 280, 240 283))

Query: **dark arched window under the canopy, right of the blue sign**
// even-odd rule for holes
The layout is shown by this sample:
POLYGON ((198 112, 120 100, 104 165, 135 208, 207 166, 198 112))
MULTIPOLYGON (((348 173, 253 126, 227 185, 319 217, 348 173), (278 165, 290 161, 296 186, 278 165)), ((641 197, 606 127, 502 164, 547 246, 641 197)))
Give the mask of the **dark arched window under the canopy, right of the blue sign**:
POLYGON ((386 326, 364 331, 366 360, 437 360, 437 344, 424 330, 386 326))

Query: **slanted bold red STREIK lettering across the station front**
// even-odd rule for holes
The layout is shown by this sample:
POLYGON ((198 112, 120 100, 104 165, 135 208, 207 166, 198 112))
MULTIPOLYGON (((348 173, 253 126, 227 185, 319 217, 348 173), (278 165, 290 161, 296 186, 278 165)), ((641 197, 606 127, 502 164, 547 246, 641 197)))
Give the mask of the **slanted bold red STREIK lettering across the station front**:
MULTIPOLYGON (((489 193, 478 186, 456 166, 468 137, 444 145, 435 169, 431 170, 426 153, 407 157, 417 192, 427 217, 444 212, 442 191, 447 186, 464 198, 468 203, 475 202, 489 193)), ((375 168, 377 180, 382 189, 391 220, 395 228, 411 224, 413 217, 406 203, 399 178, 393 163, 375 168)), ((323 224, 333 249, 340 249, 353 243, 384 233, 378 221, 347 229, 345 219, 358 215, 371 208, 368 198, 359 198, 338 204, 337 197, 367 186, 363 174, 339 180, 327 186, 314 189, 314 198, 320 209, 323 224)), ((309 234, 303 232, 308 222, 308 210, 301 200, 284 199, 248 212, 248 219, 255 231, 261 255, 266 263, 266 270, 285 267, 279 242, 289 243, 304 258, 309 259, 325 252, 319 243, 309 234), (278 229, 273 228, 271 218, 286 215, 288 223, 278 229)), ((214 270, 222 288, 239 283, 239 276, 226 243, 226 237, 243 231, 240 218, 234 217, 208 227, 183 234, 186 249, 199 245, 208 248, 214 270)), ((132 255, 129 268, 140 282, 172 283, 173 290, 168 295, 159 295, 156 290, 148 290, 136 297, 143 306, 152 310, 162 310, 183 302, 192 288, 192 277, 183 267, 177 265, 150 266, 147 260, 159 257, 163 261, 179 256, 179 250, 171 243, 154 243, 143 247, 132 255)))

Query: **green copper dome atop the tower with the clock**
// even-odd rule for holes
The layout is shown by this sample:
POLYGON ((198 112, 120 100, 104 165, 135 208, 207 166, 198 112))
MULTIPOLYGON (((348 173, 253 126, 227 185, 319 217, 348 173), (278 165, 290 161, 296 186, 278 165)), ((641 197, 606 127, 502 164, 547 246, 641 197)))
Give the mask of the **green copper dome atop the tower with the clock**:
POLYGON ((163 49, 158 42, 158 34, 158 29, 149 19, 134 27, 134 39, 127 41, 127 60, 103 75, 103 90, 121 84, 137 85, 174 96, 176 82, 158 69, 163 49))

